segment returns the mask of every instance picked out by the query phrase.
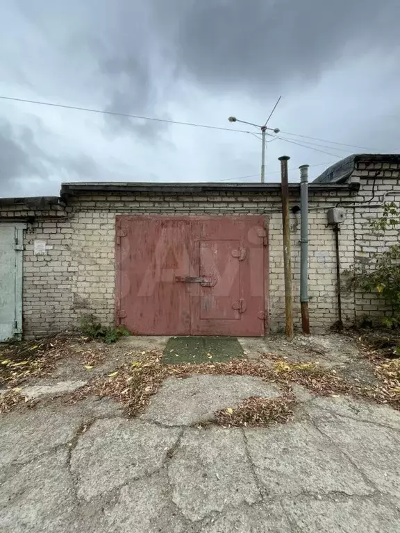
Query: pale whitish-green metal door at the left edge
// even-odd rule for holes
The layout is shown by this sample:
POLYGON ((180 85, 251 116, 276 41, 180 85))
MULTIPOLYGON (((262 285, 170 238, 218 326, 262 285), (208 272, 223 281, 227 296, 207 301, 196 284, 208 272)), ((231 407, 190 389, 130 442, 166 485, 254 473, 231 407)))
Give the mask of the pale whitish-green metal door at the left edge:
POLYGON ((0 341, 22 333, 22 227, 0 224, 0 341))

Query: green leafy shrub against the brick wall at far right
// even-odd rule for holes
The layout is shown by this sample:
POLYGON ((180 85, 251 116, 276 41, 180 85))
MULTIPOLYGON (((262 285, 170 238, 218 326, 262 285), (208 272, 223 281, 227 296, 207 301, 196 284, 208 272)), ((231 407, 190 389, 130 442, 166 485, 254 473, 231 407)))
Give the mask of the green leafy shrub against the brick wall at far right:
MULTIPOLYGON (((394 202, 387 203, 382 217, 371 223, 372 231, 398 230, 400 210, 394 202)), ((384 316, 383 324, 388 328, 400 327, 400 244, 393 244, 381 253, 375 253, 372 263, 355 264, 347 271, 348 289, 376 291, 392 307, 391 316, 384 316)))

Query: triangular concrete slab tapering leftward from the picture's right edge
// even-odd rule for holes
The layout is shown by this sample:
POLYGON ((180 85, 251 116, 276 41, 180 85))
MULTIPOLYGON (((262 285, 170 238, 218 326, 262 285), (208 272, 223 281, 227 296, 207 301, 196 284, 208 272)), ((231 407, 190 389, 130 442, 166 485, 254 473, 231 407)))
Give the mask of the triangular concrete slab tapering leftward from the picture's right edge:
MULTIPOLYGON (((325 412, 310 416, 338 449, 379 491, 400 501, 400 433, 381 425, 338 418, 325 412)), ((377 421, 378 422, 378 421, 377 421)))

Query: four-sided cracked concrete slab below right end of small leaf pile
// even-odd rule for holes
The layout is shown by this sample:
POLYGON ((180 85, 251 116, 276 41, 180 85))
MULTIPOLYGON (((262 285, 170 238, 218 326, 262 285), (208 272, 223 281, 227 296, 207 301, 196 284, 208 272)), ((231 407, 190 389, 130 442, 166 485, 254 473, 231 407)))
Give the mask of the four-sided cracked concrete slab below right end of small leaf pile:
POLYGON ((244 432, 256 476, 269 498, 305 492, 366 495, 374 491, 347 456, 310 423, 244 432))

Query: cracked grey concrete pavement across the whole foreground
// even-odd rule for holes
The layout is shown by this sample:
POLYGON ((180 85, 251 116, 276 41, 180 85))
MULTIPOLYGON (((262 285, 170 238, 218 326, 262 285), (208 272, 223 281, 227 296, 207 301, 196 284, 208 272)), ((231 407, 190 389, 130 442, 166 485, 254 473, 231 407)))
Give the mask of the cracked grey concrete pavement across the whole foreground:
POLYGON ((0 416, 0 531, 399 531, 399 412, 294 393, 263 429, 197 427, 280 394, 248 376, 171 378, 140 418, 97 398, 0 416))

